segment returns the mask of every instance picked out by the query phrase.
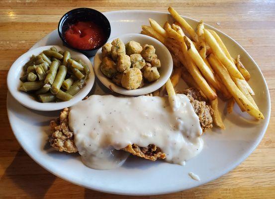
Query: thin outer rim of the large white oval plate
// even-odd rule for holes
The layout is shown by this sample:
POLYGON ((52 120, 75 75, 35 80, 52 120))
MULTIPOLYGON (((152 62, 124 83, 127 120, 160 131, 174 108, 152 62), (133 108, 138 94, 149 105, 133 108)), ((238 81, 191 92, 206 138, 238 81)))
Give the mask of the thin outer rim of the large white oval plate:
MULTIPOLYGON (((144 13, 162 13, 162 14, 169 14, 168 12, 162 12, 162 11, 151 11, 151 10, 113 10, 113 11, 108 11, 108 12, 102 12, 103 14, 112 14, 112 13, 125 13, 125 12, 144 12, 144 13)), ((187 19, 190 19, 190 20, 194 20, 196 22, 198 22, 198 20, 194 19, 194 18, 190 18, 190 17, 187 17, 187 16, 184 16, 184 15, 181 15, 183 16, 183 18, 187 18, 187 19)), ((267 101, 267 108, 268 108, 268 115, 266 116, 266 124, 263 125, 263 128, 261 130, 261 134, 260 136, 257 137, 257 139, 254 140, 253 142, 253 147, 251 147, 250 151, 248 153, 246 153, 245 155, 243 155, 241 158, 239 158, 237 161, 235 161, 235 164, 233 164, 230 168, 228 168, 227 170, 221 172, 219 175, 213 177, 213 178, 209 178, 207 179, 207 181, 200 181, 200 183, 198 185, 195 185, 193 187, 190 187, 190 188, 195 188, 195 187, 198 187, 198 186, 201 186, 203 184, 206 184, 206 183, 209 183, 213 180, 216 180, 218 178, 220 178, 221 176, 225 175, 226 173, 228 173, 229 171, 233 170, 235 167, 237 167, 239 164, 241 164, 245 159, 247 159, 247 157, 249 155, 251 155, 251 153, 258 147, 258 145, 260 144, 261 140, 263 139, 265 133, 266 133, 266 130, 268 128, 268 125, 269 125, 269 122, 270 122, 270 116, 271 116, 271 98, 270 98, 270 92, 269 92, 269 88, 268 88, 268 85, 267 85, 267 82, 266 82, 266 79, 260 69, 260 67, 258 66, 258 64, 255 62, 255 60, 251 57, 251 55, 237 42, 235 41, 232 37, 228 36, 227 34, 225 34, 224 32, 216 29, 215 27, 211 26, 211 25, 208 25, 207 23, 205 23, 208 27, 212 28, 213 30, 217 31, 218 33, 222 34, 223 36, 226 36, 228 37, 230 40, 232 40, 235 44, 238 45, 238 47, 240 47, 247 55, 248 55, 248 58, 253 62, 254 65, 256 65, 257 67, 257 70, 258 72, 260 72, 261 74, 261 77, 262 79, 264 80, 264 84, 266 86, 266 95, 268 97, 268 101, 267 101)), ((48 35, 52 34, 54 31, 56 31, 57 29, 53 30, 52 32, 48 33, 46 36, 44 36, 43 38, 41 38, 39 41, 45 39, 48 37, 48 35)), ((37 42, 36 42, 37 43, 37 42)), ((29 49, 33 49, 35 48, 34 46, 36 45, 36 43, 29 49)), ((7 99, 8 99, 8 95, 9 92, 7 92, 7 99)), ((6 107, 7 107, 7 103, 6 103, 6 107)), ((10 112, 7 108, 7 115, 8 115, 8 119, 10 118, 10 112)), ((10 120, 10 119, 9 119, 10 120)), ((9 122, 10 123, 10 122, 9 122)), ((19 142, 16 134, 14 133, 13 131, 13 127, 12 125, 11 126, 11 129, 12 129, 12 132, 15 136, 15 138, 17 139, 17 141, 19 142)), ((28 151, 25 150, 25 148, 21 145, 21 142, 19 142, 20 146, 24 149, 24 151, 37 163, 39 164, 41 167, 43 167, 44 169, 46 169, 47 171, 49 171, 50 173, 54 174, 55 176, 63 179, 63 180, 66 180, 70 183, 73 183, 75 185, 78 185, 78 186, 81 186, 81 187, 84 187, 84 188, 87 188, 87 189, 92 189, 92 190, 95 190, 95 191, 99 191, 99 192, 104 192, 104 193, 109 193, 109 194, 118 194, 118 195, 128 195, 128 196, 150 196, 150 195, 162 195, 162 194, 170 194, 170 193, 175 193, 175 192, 180 192, 180 191, 184 191, 184 190, 187 190, 187 189, 190 189, 190 188, 186 188, 186 189, 169 189, 168 191, 158 191, 158 192, 154 192, 154 191, 147 191, 147 192, 142 192, 142 193, 132 193, 132 192, 125 192, 125 191, 113 191, 112 189, 105 189, 105 187, 96 187, 96 186, 93 186, 93 187, 88 187, 84 184, 80 184, 80 183, 77 183, 77 182, 73 182, 72 180, 66 178, 66 177, 61 177, 59 174, 56 174, 55 172, 53 171, 50 171, 50 168, 47 169, 46 167, 44 167, 43 165, 41 165, 39 162, 36 161, 35 158, 33 158, 33 156, 31 154, 28 153, 28 151)))

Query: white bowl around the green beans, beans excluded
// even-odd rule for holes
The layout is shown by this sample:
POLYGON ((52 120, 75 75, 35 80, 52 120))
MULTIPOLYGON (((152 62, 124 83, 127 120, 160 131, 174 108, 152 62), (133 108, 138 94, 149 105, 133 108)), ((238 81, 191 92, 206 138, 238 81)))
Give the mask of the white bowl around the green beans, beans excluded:
POLYGON ((8 74, 7 74, 7 87, 10 94, 15 98, 19 103, 22 105, 29 107, 35 110, 43 110, 43 111, 50 111, 50 110, 60 110, 65 107, 69 107, 74 105, 75 103, 81 101, 85 98, 92 89, 94 83, 94 73, 93 68, 90 60, 84 54, 73 51, 65 46, 54 46, 58 51, 70 51, 71 55, 74 59, 81 59, 89 68, 91 73, 89 74, 89 79, 86 81, 86 85, 83 89, 77 93, 73 99, 69 101, 61 101, 61 102, 48 102, 48 103, 41 103, 37 101, 33 96, 29 95, 28 93, 19 91, 19 87, 22 82, 19 80, 20 77, 23 76, 23 65, 27 63, 31 57, 31 55, 39 55, 43 50, 48 50, 52 47, 51 46, 42 46, 35 49, 32 49, 23 55, 21 55, 10 67, 8 74))

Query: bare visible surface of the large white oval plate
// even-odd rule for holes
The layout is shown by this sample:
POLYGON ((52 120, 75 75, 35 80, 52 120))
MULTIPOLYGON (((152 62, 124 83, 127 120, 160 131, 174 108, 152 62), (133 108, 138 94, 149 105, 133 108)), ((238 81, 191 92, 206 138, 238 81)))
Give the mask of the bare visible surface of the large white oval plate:
MULTIPOLYGON (((104 14, 111 23, 111 37, 140 32, 141 25, 149 24, 148 18, 161 24, 166 20, 172 21, 170 15, 163 12, 131 10, 104 14)), ((196 20, 187 17, 185 19, 195 27, 196 20)), ((224 175, 244 161, 258 146, 269 123, 271 105, 267 84, 255 61, 236 41, 220 31, 217 33, 233 57, 241 54, 242 61, 252 76, 249 83, 256 93, 254 99, 266 118, 260 122, 250 121, 241 116, 237 106, 233 113, 225 115, 225 103, 220 102, 226 130, 213 128, 206 132, 203 135, 204 149, 197 157, 186 162, 185 166, 131 157, 115 170, 90 169, 82 164, 78 155, 56 152, 49 147, 48 125, 51 119, 58 116, 58 111, 30 110, 8 94, 7 112, 14 135, 29 156, 54 175, 101 192, 123 195, 166 194, 190 189, 224 175), (192 180, 188 176, 189 172, 197 174, 201 181, 192 180)), ((33 48, 54 44, 62 44, 57 30, 44 37, 33 48)), ((104 93, 100 88, 104 89, 97 83, 96 94, 104 93)), ((246 113, 244 115, 247 116, 246 113)))

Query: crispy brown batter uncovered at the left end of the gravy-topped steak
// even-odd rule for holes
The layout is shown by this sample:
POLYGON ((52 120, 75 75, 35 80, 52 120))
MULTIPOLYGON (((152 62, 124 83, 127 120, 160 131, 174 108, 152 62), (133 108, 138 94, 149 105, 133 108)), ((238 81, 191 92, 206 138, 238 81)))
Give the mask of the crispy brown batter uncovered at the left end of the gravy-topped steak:
POLYGON ((75 153, 78 151, 74 142, 74 133, 69 129, 69 109, 64 108, 60 113, 60 117, 56 120, 52 120, 51 130, 52 136, 49 142, 53 148, 62 152, 75 153))

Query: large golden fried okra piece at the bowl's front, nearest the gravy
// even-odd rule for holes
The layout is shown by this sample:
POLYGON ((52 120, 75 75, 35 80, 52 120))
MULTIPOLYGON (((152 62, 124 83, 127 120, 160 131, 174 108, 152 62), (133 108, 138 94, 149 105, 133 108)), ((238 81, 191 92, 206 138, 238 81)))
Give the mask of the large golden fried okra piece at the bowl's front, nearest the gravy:
POLYGON ((137 89, 142 81, 142 73, 137 68, 130 68, 123 72, 121 85, 123 88, 132 90, 137 89))

